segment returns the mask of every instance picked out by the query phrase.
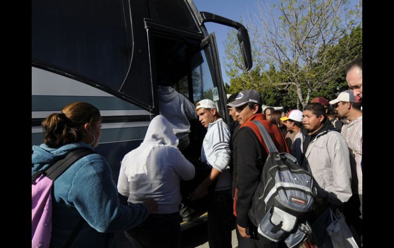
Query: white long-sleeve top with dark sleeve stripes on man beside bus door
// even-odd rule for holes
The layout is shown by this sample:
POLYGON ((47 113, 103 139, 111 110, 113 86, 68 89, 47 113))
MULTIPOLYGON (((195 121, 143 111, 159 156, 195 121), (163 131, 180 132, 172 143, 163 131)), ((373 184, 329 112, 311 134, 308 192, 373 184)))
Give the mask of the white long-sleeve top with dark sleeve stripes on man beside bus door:
POLYGON ((231 188, 230 173, 230 130, 222 118, 209 123, 201 149, 201 161, 221 172, 215 191, 231 188))

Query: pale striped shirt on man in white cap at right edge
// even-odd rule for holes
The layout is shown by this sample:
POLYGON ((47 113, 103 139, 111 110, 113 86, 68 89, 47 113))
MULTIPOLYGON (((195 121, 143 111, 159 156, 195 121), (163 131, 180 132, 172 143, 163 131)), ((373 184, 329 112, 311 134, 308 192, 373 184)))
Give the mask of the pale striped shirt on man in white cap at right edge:
POLYGON ((358 194, 362 195, 362 144, 363 144, 363 117, 360 116, 351 123, 342 127, 341 134, 345 138, 348 147, 352 150, 354 159, 356 161, 356 171, 358 179, 358 194))

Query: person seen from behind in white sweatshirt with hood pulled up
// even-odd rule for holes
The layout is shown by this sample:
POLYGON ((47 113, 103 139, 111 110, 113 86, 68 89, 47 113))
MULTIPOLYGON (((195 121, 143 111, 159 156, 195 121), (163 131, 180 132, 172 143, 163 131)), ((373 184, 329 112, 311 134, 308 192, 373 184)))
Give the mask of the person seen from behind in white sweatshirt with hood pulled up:
POLYGON ((149 124, 141 145, 127 153, 119 172, 118 191, 128 204, 157 200, 158 212, 125 232, 137 247, 179 247, 180 181, 194 177, 194 166, 177 148, 171 124, 161 115, 149 124))

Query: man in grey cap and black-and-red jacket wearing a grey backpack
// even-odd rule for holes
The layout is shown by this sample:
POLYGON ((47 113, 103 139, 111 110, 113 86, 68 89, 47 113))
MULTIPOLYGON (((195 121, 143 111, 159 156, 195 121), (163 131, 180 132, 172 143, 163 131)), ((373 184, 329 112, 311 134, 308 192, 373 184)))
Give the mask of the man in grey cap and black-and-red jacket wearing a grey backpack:
POLYGON ((252 121, 261 122, 267 128, 279 152, 289 152, 279 128, 261 114, 261 104, 261 95, 254 89, 240 92, 234 101, 228 103, 228 106, 235 107, 235 116, 240 124, 232 139, 234 215, 239 247, 277 247, 277 243, 257 232, 257 227, 248 216, 252 196, 260 182, 262 167, 268 157, 264 140, 257 138, 261 137, 261 134, 252 121))

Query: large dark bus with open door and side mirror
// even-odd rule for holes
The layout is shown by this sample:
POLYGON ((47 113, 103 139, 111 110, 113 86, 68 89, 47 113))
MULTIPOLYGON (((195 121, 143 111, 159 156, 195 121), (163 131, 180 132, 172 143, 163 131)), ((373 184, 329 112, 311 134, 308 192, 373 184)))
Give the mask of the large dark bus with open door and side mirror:
MULTIPOLYGON (((42 143, 40 124, 49 114, 70 102, 91 103, 102 116, 95 150, 117 183, 123 156, 141 144, 159 114, 163 78, 194 104, 213 100, 231 126, 215 35, 205 22, 237 29, 249 70, 247 29, 199 12, 192 0, 32 1, 32 145, 42 143)), ((205 135, 201 127, 198 121, 191 127, 197 151, 205 135)))

